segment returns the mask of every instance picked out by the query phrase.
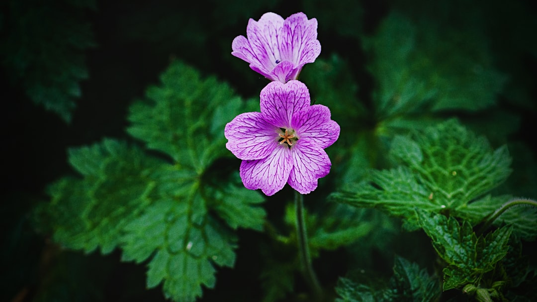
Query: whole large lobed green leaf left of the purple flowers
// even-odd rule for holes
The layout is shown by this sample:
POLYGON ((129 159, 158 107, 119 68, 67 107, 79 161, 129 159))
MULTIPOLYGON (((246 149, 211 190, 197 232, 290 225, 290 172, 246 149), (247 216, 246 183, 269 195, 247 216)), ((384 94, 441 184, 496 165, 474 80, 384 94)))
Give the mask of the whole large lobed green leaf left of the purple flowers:
POLYGON ((211 179, 209 166, 225 154, 218 134, 242 100, 180 62, 147 96, 131 107, 128 132, 169 157, 112 139, 71 149, 71 166, 83 178, 52 185, 41 220, 66 247, 86 253, 100 247, 103 254, 119 247, 124 261, 149 259, 148 287, 164 282, 166 297, 193 301, 201 285, 214 287, 215 265, 233 267, 233 229, 260 230, 265 217, 257 206, 263 198, 242 187, 238 175, 223 184, 211 179))

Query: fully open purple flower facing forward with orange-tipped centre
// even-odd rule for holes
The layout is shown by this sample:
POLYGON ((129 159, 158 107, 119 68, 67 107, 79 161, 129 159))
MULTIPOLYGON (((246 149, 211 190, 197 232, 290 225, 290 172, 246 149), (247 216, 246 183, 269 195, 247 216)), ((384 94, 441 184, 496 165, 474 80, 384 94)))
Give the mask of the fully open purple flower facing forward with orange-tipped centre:
POLYGON ((324 148, 338 139, 339 125, 324 105, 310 105, 299 81, 271 82, 261 91, 261 112, 239 114, 226 125, 226 147, 243 160, 241 178, 268 196, 285 183, 302 194, 330 172, 324 148))

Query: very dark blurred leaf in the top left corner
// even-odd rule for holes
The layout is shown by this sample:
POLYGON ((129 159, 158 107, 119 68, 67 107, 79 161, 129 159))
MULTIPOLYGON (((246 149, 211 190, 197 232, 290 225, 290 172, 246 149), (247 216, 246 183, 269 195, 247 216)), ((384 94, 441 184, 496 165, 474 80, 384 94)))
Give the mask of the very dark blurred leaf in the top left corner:
POLYGON ((10 1, 5 38, 0 45, 2 64, 13 82, 46 110, 69 123, 80 82, 88 78, 84 51, 95 47, 93 33, 83 20, 95 1, 10 1))

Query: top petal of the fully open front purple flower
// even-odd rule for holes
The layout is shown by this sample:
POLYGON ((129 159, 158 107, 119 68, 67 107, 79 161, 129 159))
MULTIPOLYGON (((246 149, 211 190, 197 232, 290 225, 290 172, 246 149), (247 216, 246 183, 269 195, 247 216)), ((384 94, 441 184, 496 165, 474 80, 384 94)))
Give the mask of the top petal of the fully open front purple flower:
POLYGON ((309 91, 300 81, 271 82, 261 90, 261 113, 280 128, 290 128, 293 115, 309 106, 309 91))

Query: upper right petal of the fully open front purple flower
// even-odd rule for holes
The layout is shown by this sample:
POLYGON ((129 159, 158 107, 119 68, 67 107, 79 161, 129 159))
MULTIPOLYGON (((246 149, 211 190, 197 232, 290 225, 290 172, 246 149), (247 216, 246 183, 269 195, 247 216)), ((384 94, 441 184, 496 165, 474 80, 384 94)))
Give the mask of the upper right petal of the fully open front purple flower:
POLYGON ((339 138, 339 125, 330 119, 330 109, 313 105, 293 116, 291 127, 299 140, 308 140, 320 148, 326 148, 339 138))

